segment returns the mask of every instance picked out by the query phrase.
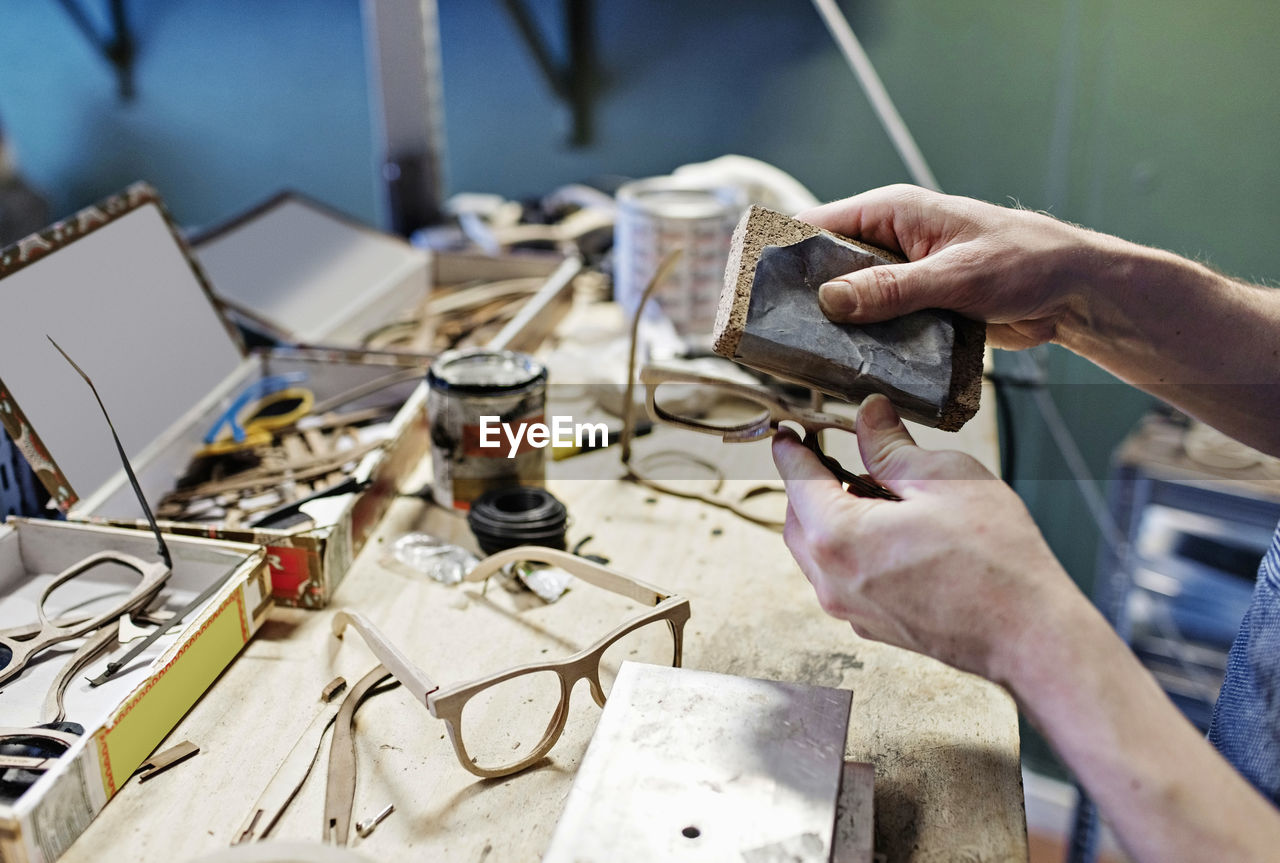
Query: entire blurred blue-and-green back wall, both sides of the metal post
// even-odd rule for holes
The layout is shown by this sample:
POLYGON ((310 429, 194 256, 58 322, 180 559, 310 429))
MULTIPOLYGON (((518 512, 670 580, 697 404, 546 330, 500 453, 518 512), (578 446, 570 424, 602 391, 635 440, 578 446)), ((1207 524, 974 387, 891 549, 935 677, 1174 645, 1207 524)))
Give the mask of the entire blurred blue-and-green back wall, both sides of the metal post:
MULTIPOLYGON (((101 14, 104 0, 78 0, 101 14)), ((54 0, 0 0, 0 123, 68 213, 152 181, 187 223, 283 187, 374 219, 356 0, 128 0, 138 100, 54 0)), ((439 0, 451 191, 526 196, 758 156, 820 197, 905 178, 804 0, 598 0, 595 138, 568 119, 497 0, 439 0)), ((556 50, 559 3, 534 3, 556 50)), ((1247 278, 1280 275, 1280 4, 844 0, 950 191, 1015 200, 1247 278)), ((1093 470, 1148 399, 1051 351, 1093 470)), ((1094 533, 1018 405, 1018 488, 1082 581, 1094 533)))

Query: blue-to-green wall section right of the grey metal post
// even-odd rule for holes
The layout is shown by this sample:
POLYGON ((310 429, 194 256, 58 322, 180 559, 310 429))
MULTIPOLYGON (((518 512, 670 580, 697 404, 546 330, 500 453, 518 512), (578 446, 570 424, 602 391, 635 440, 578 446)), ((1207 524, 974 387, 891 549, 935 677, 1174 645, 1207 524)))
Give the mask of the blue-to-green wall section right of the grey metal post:
MULTIPOLYGON (((502 15, 477 5, 442 8, 453 188, 536 193, 721 152, 777 164, 824 198, 906 178, 808 3, 600 3, 596 138, 584 150, 563 146, 562 109, 502 15), (488 97, 507 110, 481 110, 488 97)), ((842 8, 947 191, 1044 209, 1244 278, 1280 275, 1280 4, 842 8)), ((559 22, 543 23, 554 33, 559 22)), ((1039 360, 1103 481, 1151 399, 1057 348, 1039 360)), ((1088 588, 1097 531, 1030 398, 1012 403, 1015 487, 1088 588)))

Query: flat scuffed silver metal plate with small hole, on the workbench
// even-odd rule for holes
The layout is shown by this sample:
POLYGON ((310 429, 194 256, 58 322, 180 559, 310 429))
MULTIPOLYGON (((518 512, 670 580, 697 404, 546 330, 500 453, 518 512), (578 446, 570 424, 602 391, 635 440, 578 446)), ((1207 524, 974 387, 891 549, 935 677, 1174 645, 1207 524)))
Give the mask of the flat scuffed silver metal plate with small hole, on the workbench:
POLYGON ((851 700, 622 663, 543 859, 829 863, 851 700))

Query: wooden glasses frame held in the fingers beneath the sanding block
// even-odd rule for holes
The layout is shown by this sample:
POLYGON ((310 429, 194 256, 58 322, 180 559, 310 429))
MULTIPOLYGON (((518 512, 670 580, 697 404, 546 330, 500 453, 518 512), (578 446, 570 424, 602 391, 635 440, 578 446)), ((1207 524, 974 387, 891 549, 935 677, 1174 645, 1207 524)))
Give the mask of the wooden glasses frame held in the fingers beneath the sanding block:
POLYGON ((649 416, 652 416, 654 421, 666 423, 680 429, 689 429, 690 432, 700 432, 701 434, 716 434, 719 435, 724 443, 763 440, 773 437, 782 423, 794 423, 804 429, 804 446, 818 457, 822 466, 829 470, 836 479, 849 485, 850 493, 856 494, 858 497, 879 498, 883 501, 902 499, 869 476, 854 474, 852 471, 846 470, 838 461, 822 451, 822 447, 818 443, 818 432, 824 429, 837 429, 840 432, 849 432, 850 434, 858 433, 858 426, 854 424, 854 420, 846 416, 826 414, 823 411, 814 411, 808 407, 803 407, 782 398, 781 396, 776 396, 763 387, 751 387, 733 380, 726 380, 723 378, 698 374, 694 371, 668 369, 658 365, 646 365, 640 369, 640 383, 645 385, 645 406, 649 410, 649 416), (658 388, 662 384, 698 384, 713 387, 724 396, 733 396, 751 402, 760 410, 758 414, 745 420, 723 424, 704 423, 699 419, 681 416, 666 410, 658 402, 658 388))

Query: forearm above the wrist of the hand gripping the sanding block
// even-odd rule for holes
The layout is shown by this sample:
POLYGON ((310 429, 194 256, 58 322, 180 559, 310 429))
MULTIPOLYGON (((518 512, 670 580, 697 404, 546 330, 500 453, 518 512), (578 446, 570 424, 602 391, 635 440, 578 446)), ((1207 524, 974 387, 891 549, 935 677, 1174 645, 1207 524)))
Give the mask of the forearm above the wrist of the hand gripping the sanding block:
POLYGON ((1066 256, 1055 341, 1280 455, 1280 292, 1112 237, 1066 256))

